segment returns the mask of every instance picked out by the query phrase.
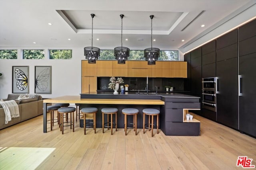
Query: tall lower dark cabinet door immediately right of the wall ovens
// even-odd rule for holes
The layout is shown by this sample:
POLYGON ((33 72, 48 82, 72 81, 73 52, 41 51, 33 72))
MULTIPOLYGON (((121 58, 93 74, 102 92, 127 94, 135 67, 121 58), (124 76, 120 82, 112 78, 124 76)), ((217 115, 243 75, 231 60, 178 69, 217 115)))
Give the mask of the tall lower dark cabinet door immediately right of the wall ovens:
POLYGON ((238 129, 238 58, 216 63, 218 94, 216 95, 216 120, 238 129))

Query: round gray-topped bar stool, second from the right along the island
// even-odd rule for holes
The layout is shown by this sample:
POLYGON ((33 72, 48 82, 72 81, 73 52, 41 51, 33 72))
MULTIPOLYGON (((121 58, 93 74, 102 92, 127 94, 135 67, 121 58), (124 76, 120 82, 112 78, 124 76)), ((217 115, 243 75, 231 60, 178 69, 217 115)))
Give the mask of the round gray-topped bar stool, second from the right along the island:
POLYGON ((133 128, 133 130, 135 131, 135 135, 137 135, 137 115, 139 113, 138 109, 134 109, 134 108, 125 108, 122 109, 122 113, 124 114, 124 131, 125 131, 125 135, 127 128, 133 128), (127 127, 127 115, 133 115, 133 123, 128 123, 130 125, 133 125, 133 127, 127 127))

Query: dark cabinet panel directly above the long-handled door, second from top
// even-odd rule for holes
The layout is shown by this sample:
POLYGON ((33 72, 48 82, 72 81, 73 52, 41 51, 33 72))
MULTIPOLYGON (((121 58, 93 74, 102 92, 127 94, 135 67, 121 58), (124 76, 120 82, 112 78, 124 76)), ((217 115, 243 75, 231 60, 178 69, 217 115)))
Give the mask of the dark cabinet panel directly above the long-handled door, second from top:
POLYGON ((256 53, 256 36, 239 42, 239 56, 244 56, 252 53, 256 53))

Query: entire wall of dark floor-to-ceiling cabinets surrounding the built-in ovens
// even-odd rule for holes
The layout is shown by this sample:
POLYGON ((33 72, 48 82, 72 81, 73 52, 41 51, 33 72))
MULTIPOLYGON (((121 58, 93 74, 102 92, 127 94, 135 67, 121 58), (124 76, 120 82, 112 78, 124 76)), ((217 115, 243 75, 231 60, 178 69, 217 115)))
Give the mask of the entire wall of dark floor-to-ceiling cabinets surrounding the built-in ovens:
POLYGON ((218 77, 217 111, 197 114, 256 137, 256 20, 186 55, 192 95, 202 98, 201 78, 218 77))

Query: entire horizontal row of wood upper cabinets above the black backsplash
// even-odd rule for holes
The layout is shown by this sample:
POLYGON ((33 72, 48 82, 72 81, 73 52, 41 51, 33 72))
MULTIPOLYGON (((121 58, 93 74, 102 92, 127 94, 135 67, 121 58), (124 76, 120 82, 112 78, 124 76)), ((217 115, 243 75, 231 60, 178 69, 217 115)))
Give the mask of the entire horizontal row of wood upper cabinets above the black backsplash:
POLYGON ((179 77, 187 78, 187 62, 184 61, 156 61, 156 65, 148 65, 147 61, 96 61, 88 64, 82 61, 82 77, 179 77))

